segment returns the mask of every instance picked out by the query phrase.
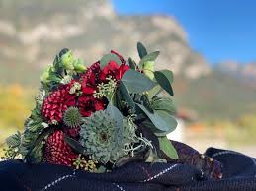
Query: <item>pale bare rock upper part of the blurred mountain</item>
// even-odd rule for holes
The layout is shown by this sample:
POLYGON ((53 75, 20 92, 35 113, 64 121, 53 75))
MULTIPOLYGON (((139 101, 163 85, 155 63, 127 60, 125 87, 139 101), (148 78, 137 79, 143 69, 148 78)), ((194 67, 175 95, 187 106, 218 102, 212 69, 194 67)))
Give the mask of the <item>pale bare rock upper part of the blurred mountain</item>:
POLYGON ((1 67, 43 68, 61 47, 73 49, 87 63, 111 48, 137 58, 137 41, 161 51, 158 69, 193 79, 210 72, 173 17, 121 17, 105 0, 0 0, 1 67))

